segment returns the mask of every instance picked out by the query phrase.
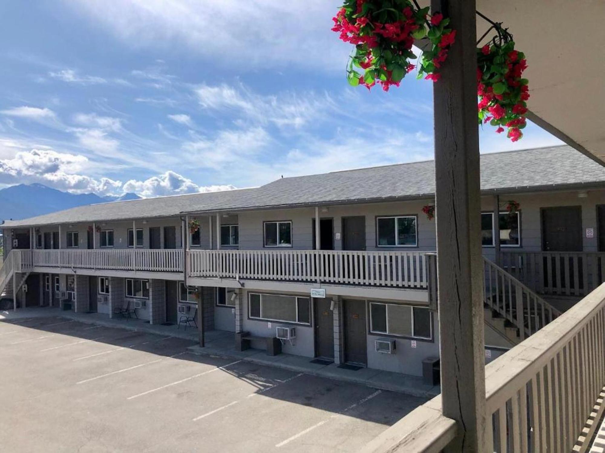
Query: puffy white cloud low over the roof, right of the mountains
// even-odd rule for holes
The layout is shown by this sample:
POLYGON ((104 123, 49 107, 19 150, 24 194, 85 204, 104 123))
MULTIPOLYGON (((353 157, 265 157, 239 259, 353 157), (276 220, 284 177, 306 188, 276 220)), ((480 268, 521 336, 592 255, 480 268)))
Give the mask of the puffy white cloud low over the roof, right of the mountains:
POLYGON ((125 192, 137 193, 143 197, 154 197, 196 192, 215 192, 232 190, 234 188, 233 185, 199 186, 191 181, 191 179, 168 170, 163 175, 152 176, 152 178, 145 179, 145 181, 136 181, 134 179, 126 181, 123 190, 125 192))

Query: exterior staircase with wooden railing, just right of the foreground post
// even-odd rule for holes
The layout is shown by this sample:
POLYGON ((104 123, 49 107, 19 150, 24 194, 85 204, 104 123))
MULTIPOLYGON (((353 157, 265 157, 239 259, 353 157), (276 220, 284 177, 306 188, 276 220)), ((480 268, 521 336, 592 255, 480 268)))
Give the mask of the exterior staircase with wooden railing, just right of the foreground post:
POLYGON ((485 323, 511 346, 561 315, 540 295, 483 257, 485 323))

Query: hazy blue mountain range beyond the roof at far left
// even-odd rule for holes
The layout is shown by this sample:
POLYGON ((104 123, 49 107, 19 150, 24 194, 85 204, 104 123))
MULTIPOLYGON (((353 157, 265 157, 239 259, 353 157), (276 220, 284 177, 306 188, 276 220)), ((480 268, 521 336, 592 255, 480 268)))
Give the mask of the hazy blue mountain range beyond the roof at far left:
POLYGON ((94 193, 63 192, 44 184, 11 185, 0 190, 0 221, 27 219, 76 206, 139 198, 136 193, 125 193, 119 197, 99 196, 94 193))

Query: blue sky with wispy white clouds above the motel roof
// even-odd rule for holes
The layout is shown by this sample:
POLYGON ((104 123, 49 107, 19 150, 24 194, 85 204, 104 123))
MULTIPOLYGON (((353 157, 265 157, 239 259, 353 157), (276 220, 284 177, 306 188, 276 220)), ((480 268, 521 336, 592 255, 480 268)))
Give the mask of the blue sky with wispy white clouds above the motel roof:
MULTIPOLYGON (((0 186, 157 196, 431 159, 431 82, 349 87, 336 7, 2 2, 0 186)), ((560 143, 534 125, 518 143, 480 138, 482 152, 560 143)))

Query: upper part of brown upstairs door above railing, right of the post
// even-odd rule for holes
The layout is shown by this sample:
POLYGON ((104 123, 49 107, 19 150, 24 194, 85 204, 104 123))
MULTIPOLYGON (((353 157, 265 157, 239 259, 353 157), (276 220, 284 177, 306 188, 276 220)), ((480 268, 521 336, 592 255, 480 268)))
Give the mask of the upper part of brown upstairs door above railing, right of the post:
POLYGON ((561 206, 542 208, 542 250, 582 251, 582 208, 561 206))

